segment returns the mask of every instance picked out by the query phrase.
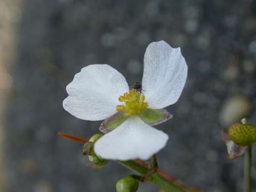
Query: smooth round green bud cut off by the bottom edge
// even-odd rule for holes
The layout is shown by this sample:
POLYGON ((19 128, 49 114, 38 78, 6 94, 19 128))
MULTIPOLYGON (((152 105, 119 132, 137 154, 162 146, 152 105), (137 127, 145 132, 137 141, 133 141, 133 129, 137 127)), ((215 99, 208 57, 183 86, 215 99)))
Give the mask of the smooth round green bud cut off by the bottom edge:
POLYGON ((135 192, 139 187, 139 182, 131 175, 119 180, 116 183, 117 192, 135 192))

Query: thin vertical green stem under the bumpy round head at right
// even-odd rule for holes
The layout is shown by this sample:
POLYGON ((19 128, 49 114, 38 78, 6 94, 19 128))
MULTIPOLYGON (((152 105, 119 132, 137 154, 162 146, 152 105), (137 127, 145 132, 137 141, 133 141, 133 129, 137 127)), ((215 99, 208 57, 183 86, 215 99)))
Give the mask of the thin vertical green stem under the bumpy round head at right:
POLYGON ((251 192, 252 146, 249 145, 244 157, 244 191, 251 192))

